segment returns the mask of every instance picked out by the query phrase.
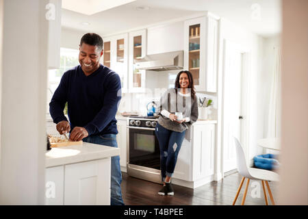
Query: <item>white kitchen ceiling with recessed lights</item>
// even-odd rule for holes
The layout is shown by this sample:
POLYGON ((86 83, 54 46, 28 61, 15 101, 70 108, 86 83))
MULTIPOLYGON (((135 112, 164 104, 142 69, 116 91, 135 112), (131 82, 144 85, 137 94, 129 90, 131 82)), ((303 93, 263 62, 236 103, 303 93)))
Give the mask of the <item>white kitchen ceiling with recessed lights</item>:
POLYGON ((263 37, 281 32, 281 0, 136 0, 92 15, 62 9, 62 27, 107 36, 205 11, 263 37))

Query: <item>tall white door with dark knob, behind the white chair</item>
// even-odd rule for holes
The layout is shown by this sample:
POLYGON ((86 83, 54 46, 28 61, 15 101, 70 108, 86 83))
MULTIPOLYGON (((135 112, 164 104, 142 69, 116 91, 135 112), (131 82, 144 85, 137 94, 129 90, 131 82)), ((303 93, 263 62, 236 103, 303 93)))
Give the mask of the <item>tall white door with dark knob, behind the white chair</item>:
POLYGON ((234 172, 237 168, 233 136, 246 144, 246 96, 248 52, 235 42, 224 40, 222 84, 222 162, 223 172, 234 172))

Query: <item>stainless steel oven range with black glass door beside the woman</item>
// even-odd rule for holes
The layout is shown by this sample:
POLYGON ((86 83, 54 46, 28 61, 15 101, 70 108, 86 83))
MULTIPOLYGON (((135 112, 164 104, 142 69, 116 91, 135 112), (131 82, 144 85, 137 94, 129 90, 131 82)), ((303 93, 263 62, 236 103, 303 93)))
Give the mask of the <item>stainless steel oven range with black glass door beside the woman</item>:
POLYGON ((162 183, 160 151, 155 127, 158 116, 130 116, 127 125, 127 174, 131 177, 162 183))

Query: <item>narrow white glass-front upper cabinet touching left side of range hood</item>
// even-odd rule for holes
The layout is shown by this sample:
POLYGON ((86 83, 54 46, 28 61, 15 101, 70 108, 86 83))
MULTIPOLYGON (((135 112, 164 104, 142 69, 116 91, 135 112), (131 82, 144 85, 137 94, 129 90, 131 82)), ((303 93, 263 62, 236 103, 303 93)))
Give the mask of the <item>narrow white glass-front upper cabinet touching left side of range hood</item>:
POLYGON ((135 63, 146 55, 146 29, 129 33, 129 92, 145 91, 145 70, 135 63))

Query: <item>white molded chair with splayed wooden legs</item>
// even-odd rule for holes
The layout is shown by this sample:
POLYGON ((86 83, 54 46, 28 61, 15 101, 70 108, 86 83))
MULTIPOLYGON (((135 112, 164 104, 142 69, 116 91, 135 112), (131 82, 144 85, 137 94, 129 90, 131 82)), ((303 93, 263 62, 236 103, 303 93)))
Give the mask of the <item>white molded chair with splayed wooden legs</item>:
POLYGON ((263 191, 264 191, 264 198, 266 200, 266 205, 268 205, 268 198, 266 195, 266 188, 264 185, 264 181, 266 183, 266 186, 268 188, 268 193, 270 194, 270 201, 272 201, 272 205, 275 205, 274 198, 272 197, 272 192, 270 191, 270 185, 268 185, 268 181, 279 181, 279 175, 276 172, 272 172, 270 170, 263 170, 263 169, 257 169, 257 168, 249 168, 246 165, 246 159, 245 154, 242 149, 242 146, 237 138, 234 137, 235 140, 235 149, 236 149, 236 162, 238 164, 238 172, 240 175, 242 175, 242 181, 240 183, 240 187, 238 188, 238 193, 236 194, 233 204, 235 205, 236 200, 238 199, 238 195, 240 194, 240 191, 242 189, 242 185, 244 183, 244 180, 247 178, 248 181, 246 183, 246 188, 244 191, 244 196, 242 199, 242 205, 245 203, 246 194, 248 190, 249 181, 251 179, 257 179, 262 181, 263 191))

